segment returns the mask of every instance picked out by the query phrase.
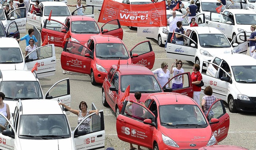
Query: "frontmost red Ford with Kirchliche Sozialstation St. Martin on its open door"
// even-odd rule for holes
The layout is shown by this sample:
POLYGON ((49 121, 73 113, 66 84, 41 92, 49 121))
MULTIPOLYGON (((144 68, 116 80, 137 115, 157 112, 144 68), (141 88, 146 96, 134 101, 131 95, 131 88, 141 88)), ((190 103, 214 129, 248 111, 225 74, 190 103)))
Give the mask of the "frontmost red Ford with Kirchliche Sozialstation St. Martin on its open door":
POLYGON ((154 150, 197 150, 228 135, 230 119, 220 99, 206 116, 192 98, 177 93, 153 93, 144 103, 124 101, 116 119, 120 140, 154 150))

